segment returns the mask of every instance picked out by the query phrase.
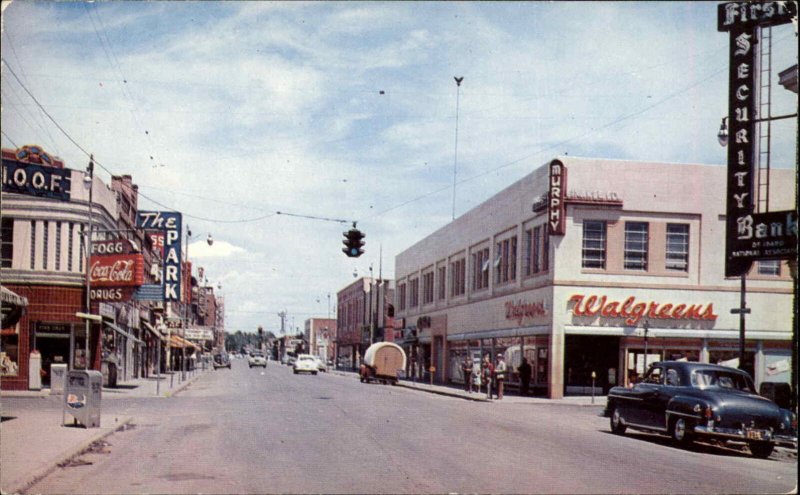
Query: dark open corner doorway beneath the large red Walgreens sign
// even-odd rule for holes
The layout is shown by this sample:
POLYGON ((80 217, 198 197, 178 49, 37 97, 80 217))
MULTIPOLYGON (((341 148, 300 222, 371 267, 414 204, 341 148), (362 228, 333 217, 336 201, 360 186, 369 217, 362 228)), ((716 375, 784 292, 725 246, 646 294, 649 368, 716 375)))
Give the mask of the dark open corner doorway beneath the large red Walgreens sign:
POLYGON ((566 335, 564 395, 600 395, 619 383, 619 337, 566 335))

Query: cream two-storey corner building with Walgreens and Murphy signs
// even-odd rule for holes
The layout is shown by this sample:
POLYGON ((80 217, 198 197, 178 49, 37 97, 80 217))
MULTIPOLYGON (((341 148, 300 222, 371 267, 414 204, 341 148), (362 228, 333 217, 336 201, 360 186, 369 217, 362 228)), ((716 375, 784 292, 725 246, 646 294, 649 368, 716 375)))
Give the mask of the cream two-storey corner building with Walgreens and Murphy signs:
MULTIPOLYGON (((772 174, 773 209, 795 209, 794 170, 772 174)), ((465 355, 502 353, 512 370, 531 363, 534 393, 559 398, 628 384, 655 360, 738 365, 725 186, 719 166, 561 157, 538 168, 397 256, 408 373, 460 382, 465 355)), ((757 383, 789 382, 792 300, 788 263, 754 265, 745 356, 757 383)))

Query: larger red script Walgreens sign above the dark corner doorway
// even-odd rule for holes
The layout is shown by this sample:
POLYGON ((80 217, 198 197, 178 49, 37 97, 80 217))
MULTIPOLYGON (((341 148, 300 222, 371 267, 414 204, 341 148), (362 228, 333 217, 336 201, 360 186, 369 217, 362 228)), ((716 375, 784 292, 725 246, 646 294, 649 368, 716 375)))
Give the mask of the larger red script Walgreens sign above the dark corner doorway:
POLYGON ((627 325, 636 325, 642 318, 649 320, 696 320, 716 321, 714 305, 672 304, 656 301, 637 301, 630 296, 624 301, 611 300, 606 296, 575 294, 570 297, 574 316, 624 318, 627 325))

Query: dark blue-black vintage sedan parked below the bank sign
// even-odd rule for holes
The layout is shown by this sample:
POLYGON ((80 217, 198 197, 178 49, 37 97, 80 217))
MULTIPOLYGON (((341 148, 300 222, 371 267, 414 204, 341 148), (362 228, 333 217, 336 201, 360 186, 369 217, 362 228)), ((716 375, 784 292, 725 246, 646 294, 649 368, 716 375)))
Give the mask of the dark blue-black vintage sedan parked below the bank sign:
POLYGON ((755 457, 772 454, 776 443, 797 447, 797 418, 756 393, 744 371, 683 361, 654 363, 633 388, 608 393, 605 416, 611 431, 626 428, 694 439, 744 442, 755 457))

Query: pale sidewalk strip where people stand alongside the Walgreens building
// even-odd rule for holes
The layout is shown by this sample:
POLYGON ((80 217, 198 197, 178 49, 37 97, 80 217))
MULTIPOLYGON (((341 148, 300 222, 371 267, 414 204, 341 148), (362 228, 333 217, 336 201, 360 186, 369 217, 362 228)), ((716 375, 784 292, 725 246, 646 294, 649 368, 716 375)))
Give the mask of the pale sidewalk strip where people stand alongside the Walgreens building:
MULTIPOLYGON (((358 373, 355 371, 331 370, 331 373, 358 379, 358 373)), ((501 404, 530 404, 530 405, 569 405, 569 406, 598 407, 598 408, 605 407, 606 405, 606 396, 604 395, 596 395, 594 399, 592 399, 591 396, 570 396, 570 397, 564 397, 563 399, 547 399, 544 397, 522 397, 518 395, 516 392, 510 392, 506 393, 503 396, 502 400, 497 400, 497 399, 490 400, 486 398, 485 388, 480 393, 479 392, 470 393, 470 392, 465 392, 462 386, 431 385, 429 383, 414 382, 407 379, 398 381, 397 386, 414 390, 420 390, 431 394, 447 395, 450 397, 472 400, 475 402, 493 402, 501 404)), ((601 392, 602 390, 598 389, 598 394, 601 392)))

